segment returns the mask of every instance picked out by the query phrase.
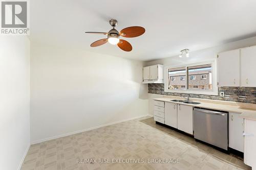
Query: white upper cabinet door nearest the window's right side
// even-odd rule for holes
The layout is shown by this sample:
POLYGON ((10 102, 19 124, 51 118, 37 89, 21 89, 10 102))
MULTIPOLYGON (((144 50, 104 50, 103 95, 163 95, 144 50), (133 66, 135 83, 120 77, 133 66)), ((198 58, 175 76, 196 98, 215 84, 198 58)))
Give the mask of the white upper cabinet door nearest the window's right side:
POLYGON ((222 86, 240 86, 240 49, 218 55, 218 82, 222 86))

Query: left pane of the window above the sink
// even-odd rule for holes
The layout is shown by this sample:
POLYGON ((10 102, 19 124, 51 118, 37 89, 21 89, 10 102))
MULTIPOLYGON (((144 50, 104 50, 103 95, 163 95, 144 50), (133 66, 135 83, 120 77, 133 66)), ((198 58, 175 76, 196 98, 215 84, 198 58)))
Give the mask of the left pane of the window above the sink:
POLYGON ((185 76, 186 76, 186 67, 169 68, 168 69, 168 89, 181 89, 181 86, 185 86, 184 88, 186 88, 186 81, 181 81, 181 78, 180 78, 180 77, 185 78, 185 76))

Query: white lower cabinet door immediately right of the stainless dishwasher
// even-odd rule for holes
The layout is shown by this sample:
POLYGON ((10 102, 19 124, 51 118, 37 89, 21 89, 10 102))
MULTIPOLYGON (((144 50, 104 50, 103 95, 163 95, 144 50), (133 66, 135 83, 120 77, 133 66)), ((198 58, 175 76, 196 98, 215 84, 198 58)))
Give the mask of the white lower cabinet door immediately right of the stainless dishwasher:
POLYGON ((229 112, 229 148, 244 152, 244 119, 229 112))

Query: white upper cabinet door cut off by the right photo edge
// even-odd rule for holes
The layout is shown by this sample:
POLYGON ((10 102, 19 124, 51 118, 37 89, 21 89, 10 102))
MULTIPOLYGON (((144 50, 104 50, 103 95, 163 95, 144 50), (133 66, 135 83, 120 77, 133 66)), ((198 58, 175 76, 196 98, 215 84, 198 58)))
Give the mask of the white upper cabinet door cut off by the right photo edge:
POLYGON ((254 70, 255 63, 256 63, 256 46, 242 48, 241 49, 241 86, 242 87, 256 87, 255 70, 254 70))

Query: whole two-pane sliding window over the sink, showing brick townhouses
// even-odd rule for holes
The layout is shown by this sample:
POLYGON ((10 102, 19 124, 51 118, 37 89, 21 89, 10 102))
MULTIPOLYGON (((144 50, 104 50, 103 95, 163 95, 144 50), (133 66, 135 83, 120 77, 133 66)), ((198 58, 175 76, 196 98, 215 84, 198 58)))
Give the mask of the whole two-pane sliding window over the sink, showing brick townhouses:
MULTIPOLYGON (((182 67, 165 67, 165 91, 217 95, 218 86, 212 87, 212 72, 215 62, 182 67)), ((216 68, 215 68, 216 69, 216 68)), ((217 77, 214 75, 215 83, 217 77)))

